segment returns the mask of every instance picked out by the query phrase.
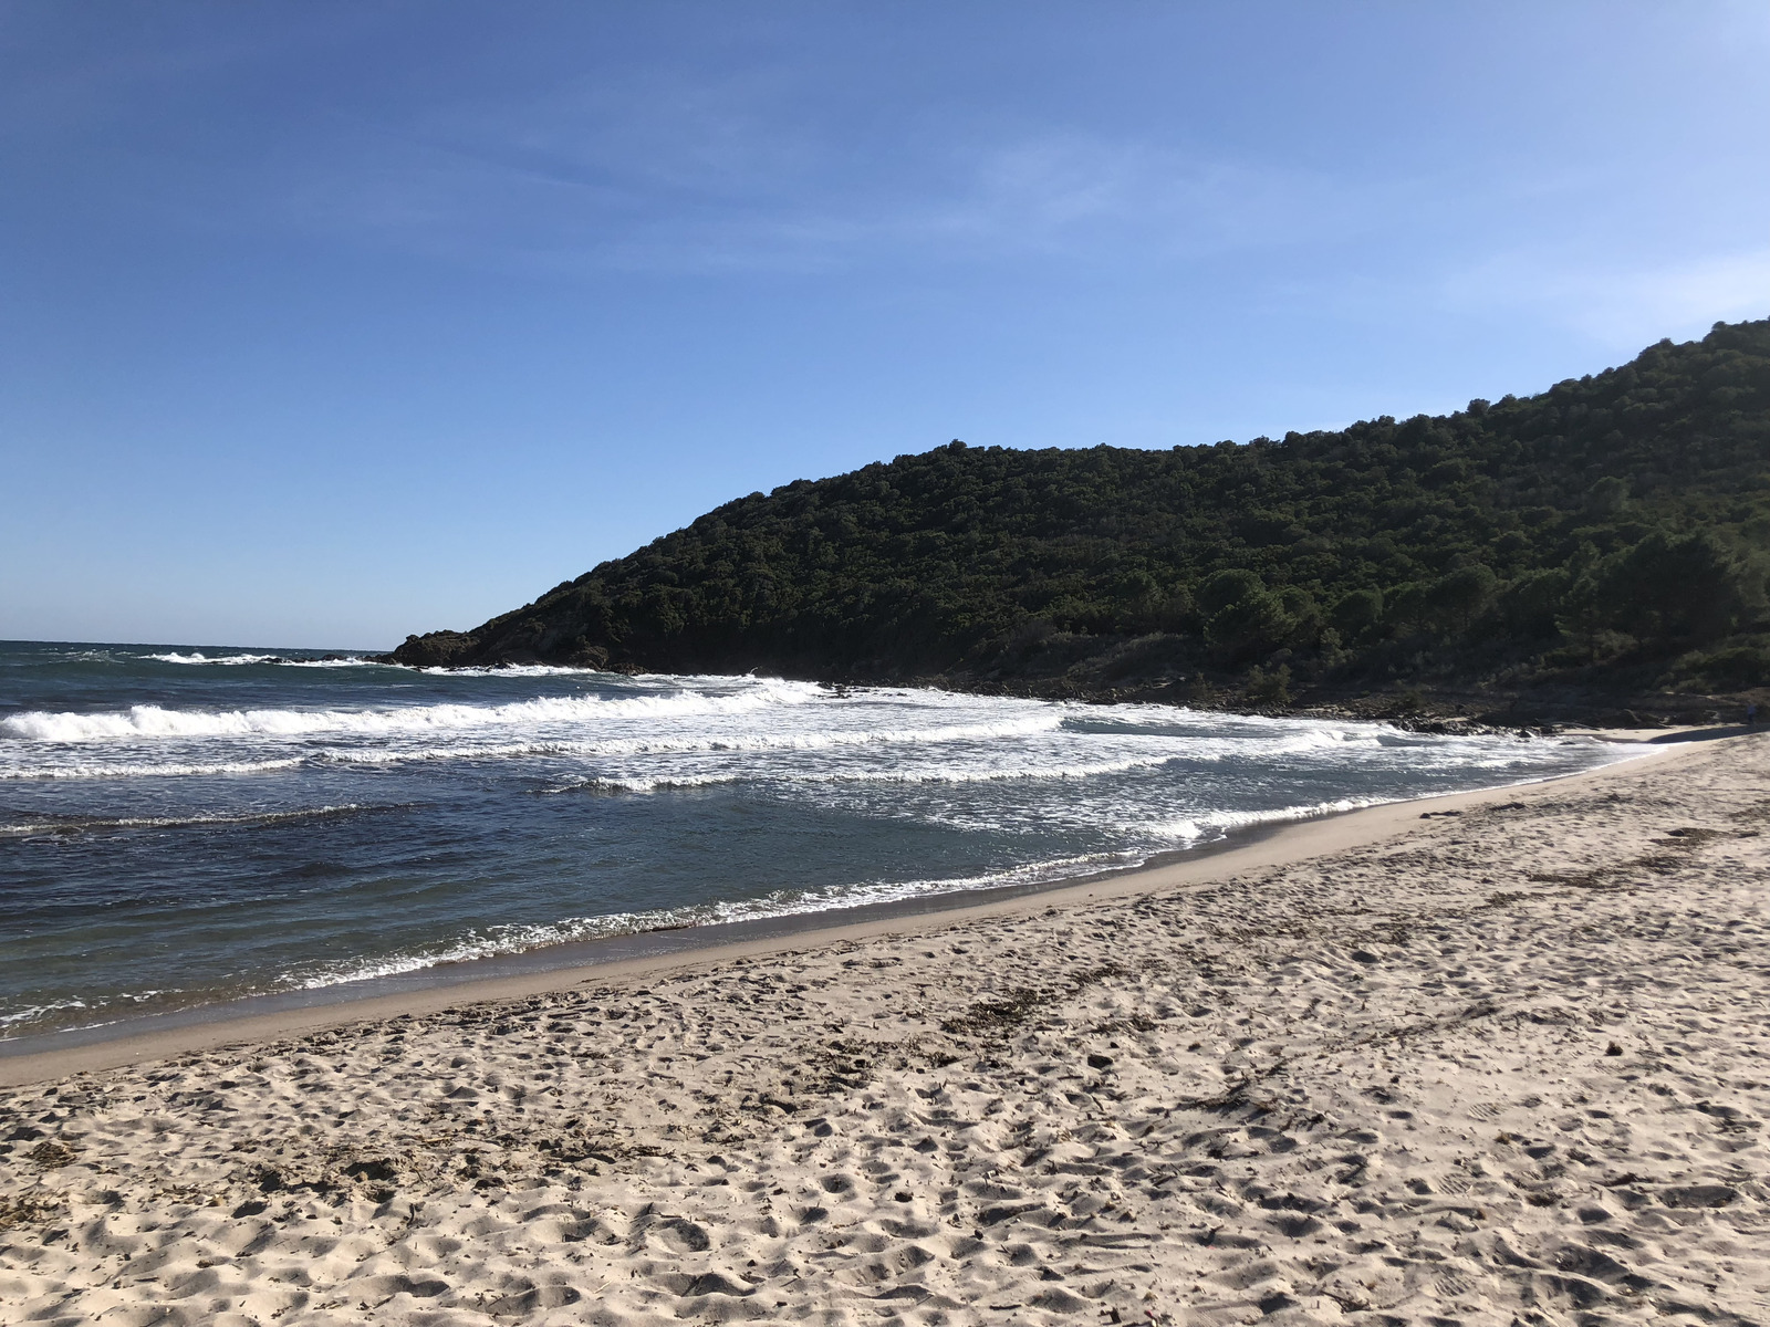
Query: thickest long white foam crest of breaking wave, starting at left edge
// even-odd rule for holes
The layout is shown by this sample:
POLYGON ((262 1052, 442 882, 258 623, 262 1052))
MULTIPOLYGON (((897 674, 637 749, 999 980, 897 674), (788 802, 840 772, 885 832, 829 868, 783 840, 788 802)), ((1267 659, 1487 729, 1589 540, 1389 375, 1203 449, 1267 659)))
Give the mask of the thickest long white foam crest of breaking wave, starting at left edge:
POLYGON ((30 741, 106 741, 142 738, 290 738, 320 733, 389 736, 526 724, 584 724, 604 718, 687 718, 736 715, 798 704, 820 694, 811 683, 770 681, 731 695, 671 692, 595 697, 543 695, 508 704, 425 704, 391 710, 166 710, 136 704, 96 713, 34 710, 0 718, 0 734, 30 741))

